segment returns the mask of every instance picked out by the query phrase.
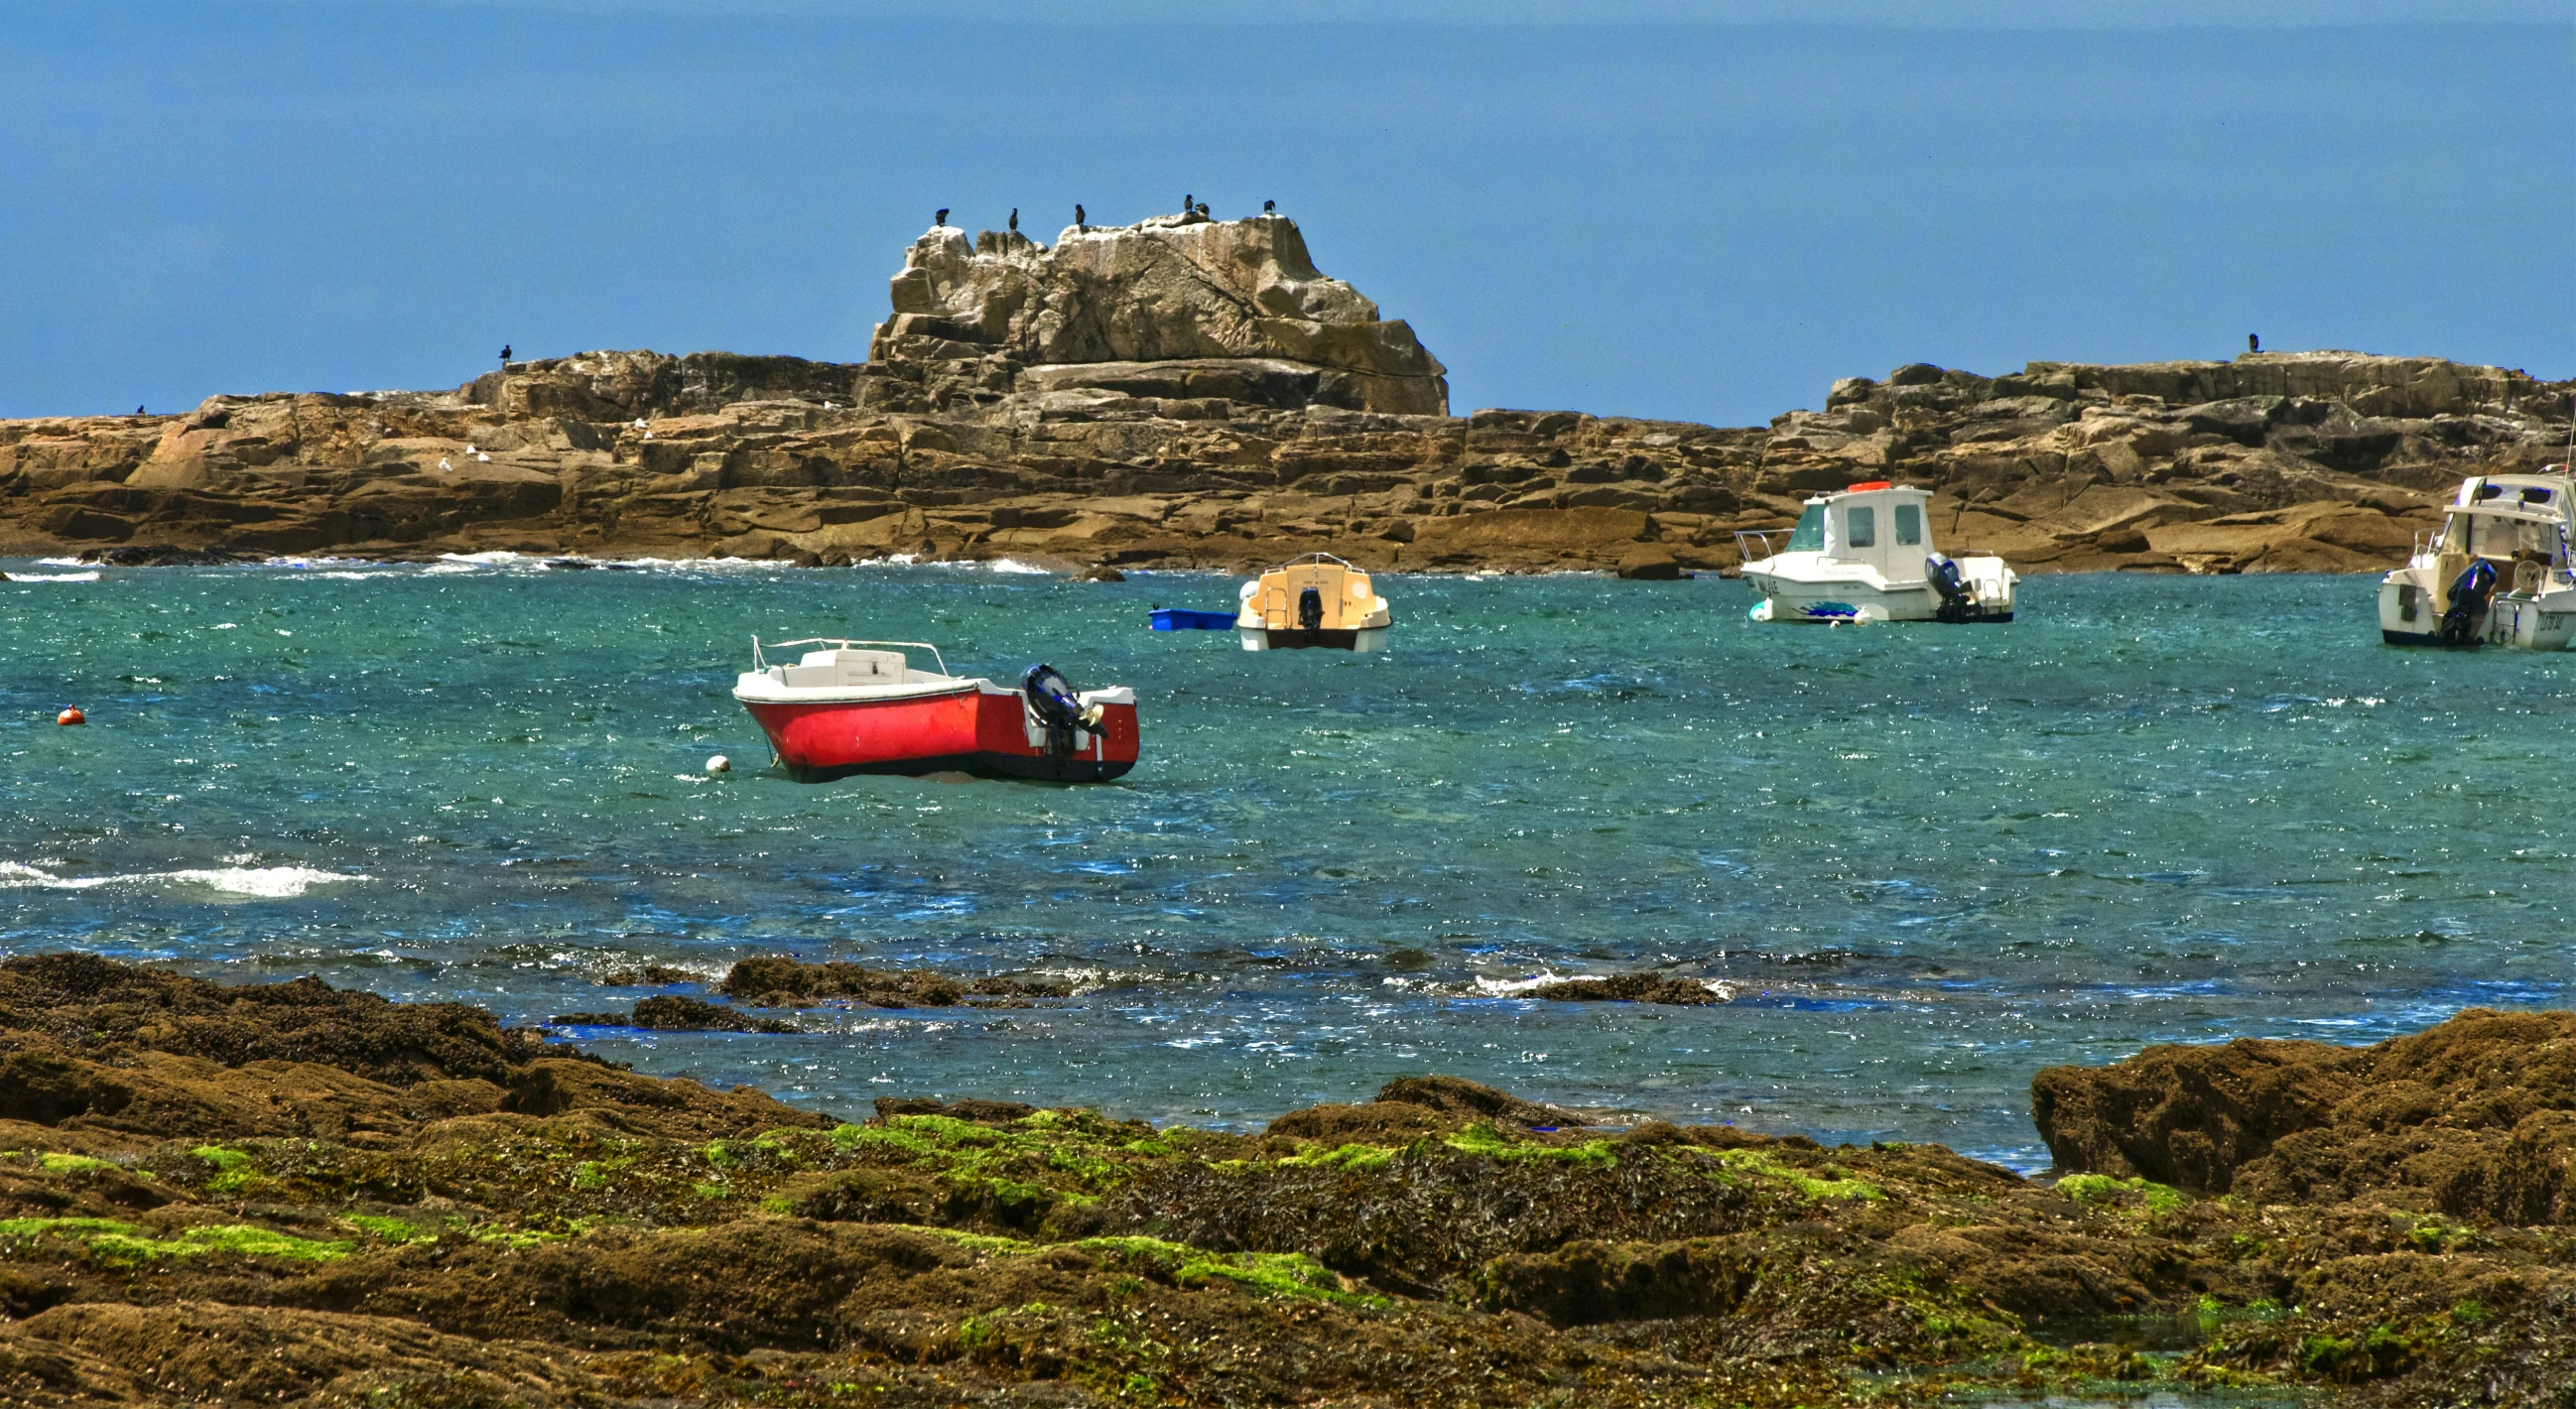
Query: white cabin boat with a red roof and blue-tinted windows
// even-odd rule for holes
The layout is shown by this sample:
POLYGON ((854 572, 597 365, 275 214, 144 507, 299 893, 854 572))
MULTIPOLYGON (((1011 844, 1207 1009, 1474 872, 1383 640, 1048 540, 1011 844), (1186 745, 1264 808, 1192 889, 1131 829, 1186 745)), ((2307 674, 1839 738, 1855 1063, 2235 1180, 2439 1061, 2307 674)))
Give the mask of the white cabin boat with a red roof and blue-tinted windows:
POLYGON ((1754 621, 2012 621, 2020 574, 1932 546, 1929 489, 1873 479, 1816 495, 1785 544, 1736 533, 1754 621))

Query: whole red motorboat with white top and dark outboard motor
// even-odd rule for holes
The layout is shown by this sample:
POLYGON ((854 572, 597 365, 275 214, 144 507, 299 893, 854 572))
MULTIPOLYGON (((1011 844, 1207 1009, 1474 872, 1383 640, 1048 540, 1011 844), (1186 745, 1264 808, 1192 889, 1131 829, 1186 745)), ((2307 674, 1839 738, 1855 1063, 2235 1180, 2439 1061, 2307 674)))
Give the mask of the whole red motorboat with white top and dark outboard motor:
POLYGON ((817 636, 762 647, 734 683, 786 770, 804 780, 850 773, 981 773, 1097 783, 1136 768, 1136 690, 1074 690, 1051 665, 1033 665, 1020 688, 948 675, 925 641, 817 636), (817 647, 796 665, 768 652, 817 647), (938 670, 914 670, 904 652, 930 652, 938 670))

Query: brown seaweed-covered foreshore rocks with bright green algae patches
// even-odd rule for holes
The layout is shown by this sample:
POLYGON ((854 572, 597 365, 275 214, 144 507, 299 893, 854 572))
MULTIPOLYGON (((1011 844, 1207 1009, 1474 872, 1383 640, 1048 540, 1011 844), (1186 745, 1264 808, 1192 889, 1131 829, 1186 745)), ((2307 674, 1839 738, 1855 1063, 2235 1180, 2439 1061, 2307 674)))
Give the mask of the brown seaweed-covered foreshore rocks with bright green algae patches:
POLYGON ((461 1005, 13 958, 18 1084, 93 1095, 0 1118, 0 1394, 2555 1406, 2576 1383, 2563 1203, 2437 1211, 2452 1182, 2421 1157, 2509 1162, 2491 1133, 2512 1131, 2563 1172, 2563 1144, 2524 1136, 2576 1105, 2568 1033, 2566 1012, 2468 1012, 2378 1048, 2043 1074, 2050 1141, 2128 1164, 2218 1128, 2190 1090, 2233 1092, 2223 1123, 2269 1146, 2228 1144, 2239 1193, 2213 1198, 1940 1146, 1602 1128, 1458 1077, 1257 1136, 974 1097, 835 1121, 461 1005), (2339 1175, 2246 1193, 2318 1131, 2344 1154, 2295 1164, 2339 1175), (2099 1316, 2141 1314, 2161 1342, 2105 1342, 2099 1316))

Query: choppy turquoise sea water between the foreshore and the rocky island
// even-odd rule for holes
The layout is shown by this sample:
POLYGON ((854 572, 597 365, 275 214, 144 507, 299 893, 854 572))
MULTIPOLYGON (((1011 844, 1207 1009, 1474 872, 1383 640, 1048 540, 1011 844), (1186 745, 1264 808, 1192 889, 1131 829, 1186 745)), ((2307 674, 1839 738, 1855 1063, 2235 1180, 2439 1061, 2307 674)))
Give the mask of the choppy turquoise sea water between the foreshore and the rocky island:
POLYGON ((2563 1005, 2576 971, 2576 657, 2380 647, 2362 577, 2035 577, 1981 629, 1749 626, 1718 580, 1388 577, 1396 649, 1350 657, 1144 629, 1229 605, 1208 574, 0 567, 52 577, 0 585, 8 950, 518 1023, 747 953, 1082 987, 567 1033, 842 1110, 1257 1123, 1455 1072, 2035 1167, 2045 1064, 2372 1041, 2563 1005), (752 634, 824 631, 1133 685, 1144 762, 770 775, 726 690, 752 634), (1517 997, 1633 969, 1731 1002, 1517 997))

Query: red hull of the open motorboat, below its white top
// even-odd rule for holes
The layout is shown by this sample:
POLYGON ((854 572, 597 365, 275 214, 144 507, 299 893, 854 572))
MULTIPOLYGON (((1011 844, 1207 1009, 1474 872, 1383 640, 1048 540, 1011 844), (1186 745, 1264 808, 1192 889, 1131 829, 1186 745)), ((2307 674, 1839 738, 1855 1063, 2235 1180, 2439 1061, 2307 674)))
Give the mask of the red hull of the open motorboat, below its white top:
POLYGON ((891 701, 742 701, 742 708, 799 780, 974 773, 1103 783, 1136 768, 1133 703, 1103 703, 1100 729, 1074 729, 1061 752, 1028 721, 1018 690, 981 685, 891 701))

